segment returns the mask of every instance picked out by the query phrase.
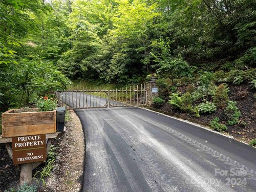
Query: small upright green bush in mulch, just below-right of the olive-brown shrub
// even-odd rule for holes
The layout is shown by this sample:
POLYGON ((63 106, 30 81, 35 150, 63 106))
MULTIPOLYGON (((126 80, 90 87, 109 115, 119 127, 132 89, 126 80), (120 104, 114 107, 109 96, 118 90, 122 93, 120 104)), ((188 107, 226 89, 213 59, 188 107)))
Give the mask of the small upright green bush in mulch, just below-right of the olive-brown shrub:
POLYGON ((239 111, 236 104, 236 101, 228 101, 227 107, 224 110, 228 119, 228 125, 234 125, 238 123, 241 112, 239 111))

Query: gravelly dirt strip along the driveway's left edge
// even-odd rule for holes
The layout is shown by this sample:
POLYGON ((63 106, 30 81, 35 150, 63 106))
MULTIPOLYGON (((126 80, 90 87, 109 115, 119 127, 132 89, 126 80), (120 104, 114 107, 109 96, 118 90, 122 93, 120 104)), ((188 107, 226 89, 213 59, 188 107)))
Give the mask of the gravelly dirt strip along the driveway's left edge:
POLYGON ((83 180, 84 135, 77 115, 70 111, 71 120, 66 124, 65 134, 53 144, 57 146, 55 168, 46 179, 46 187, 39 191, 80 191, 83 180))

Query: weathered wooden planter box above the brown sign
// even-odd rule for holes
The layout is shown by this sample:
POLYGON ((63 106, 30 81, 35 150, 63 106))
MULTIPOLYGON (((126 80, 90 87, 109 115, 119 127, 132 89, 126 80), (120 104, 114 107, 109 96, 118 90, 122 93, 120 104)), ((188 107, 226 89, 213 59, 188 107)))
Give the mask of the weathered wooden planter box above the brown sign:
POLYGON ((9 110, 2 114, 2 137, 18 137, 56 133, 56 110, 37 112, 36 109, 9 110))

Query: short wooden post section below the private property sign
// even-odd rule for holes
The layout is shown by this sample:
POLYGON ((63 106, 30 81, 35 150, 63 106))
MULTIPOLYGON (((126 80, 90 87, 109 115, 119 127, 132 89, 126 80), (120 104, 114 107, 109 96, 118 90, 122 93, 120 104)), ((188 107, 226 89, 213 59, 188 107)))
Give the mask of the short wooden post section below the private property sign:
POLYGON ((33 163, 24 163, 20 169, 19 185, 32 183, 33 163))

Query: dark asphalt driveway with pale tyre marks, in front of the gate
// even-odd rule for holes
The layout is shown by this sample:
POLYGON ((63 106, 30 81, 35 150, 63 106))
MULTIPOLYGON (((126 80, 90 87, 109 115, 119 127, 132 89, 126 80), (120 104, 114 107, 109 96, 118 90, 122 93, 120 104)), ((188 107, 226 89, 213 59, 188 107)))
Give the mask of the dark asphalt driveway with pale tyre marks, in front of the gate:
POLYGON ((256 191, 256 150, 134 107, 76 110, 83 191, 256 191))

